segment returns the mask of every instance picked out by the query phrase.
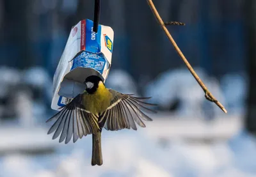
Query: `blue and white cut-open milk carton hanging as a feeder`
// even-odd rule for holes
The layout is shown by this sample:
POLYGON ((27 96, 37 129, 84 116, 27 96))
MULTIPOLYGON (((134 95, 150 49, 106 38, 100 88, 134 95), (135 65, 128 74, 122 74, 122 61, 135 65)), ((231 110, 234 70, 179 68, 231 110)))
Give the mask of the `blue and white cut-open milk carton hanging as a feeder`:
POLYGON ((99 25, 93 32, 92 20, 81 20, 72 27, 67 44, 53 77, 54 95, 51 108, 58 110, 84 91, 89 75, 105 82, 111 66, 114 31, 99 25))

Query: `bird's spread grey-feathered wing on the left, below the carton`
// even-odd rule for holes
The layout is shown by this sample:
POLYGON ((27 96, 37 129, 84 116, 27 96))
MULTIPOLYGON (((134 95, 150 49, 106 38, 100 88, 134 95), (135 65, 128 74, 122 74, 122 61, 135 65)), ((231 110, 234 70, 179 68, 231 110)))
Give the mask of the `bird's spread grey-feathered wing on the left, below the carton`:
POLYGON ((82 103, 82 95, 77 95, 70 103, 61 107, 61 111, 52 116, 46 122, 56 119, 48 134, 54 132, 52 139, 56 139, 60 134, 59 142, 67 144, 73 135, 73 142, 78 137, 81 139, 88 134, 96 134, 99 131, 98 118, 94 114, 86 111, 82 103))

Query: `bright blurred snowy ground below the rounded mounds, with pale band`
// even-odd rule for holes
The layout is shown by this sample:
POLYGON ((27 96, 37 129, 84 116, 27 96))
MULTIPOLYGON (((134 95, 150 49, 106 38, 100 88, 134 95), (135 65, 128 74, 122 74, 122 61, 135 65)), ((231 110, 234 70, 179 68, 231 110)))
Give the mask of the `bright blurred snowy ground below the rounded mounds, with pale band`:
POLYGON ((241 119, 207 123, 193 119, 154 120, 137 131, 104 131, 104 164, 100 167, 90 165, 90 135, 75 144, 59 144, 46 135, 47 128, 38 128, 37 132, 31 129, 30 135, 20 128, 1 128, 0 149, 10 143, 10 149, 27 146, 28 151, 1 153, 0 176, 256 176, 256 141, 243 130, 241 119), (42 147, 40 144, 54 152, 29 152, 42 147))

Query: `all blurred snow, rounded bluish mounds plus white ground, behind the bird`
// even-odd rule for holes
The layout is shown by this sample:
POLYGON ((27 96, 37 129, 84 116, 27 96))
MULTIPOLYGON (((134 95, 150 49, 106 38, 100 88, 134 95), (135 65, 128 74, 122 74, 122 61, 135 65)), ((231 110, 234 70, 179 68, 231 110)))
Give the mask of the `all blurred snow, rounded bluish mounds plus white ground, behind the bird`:
MULTIPOLYGON (((205 102, 203 91, 186 69, 161 73, 145 86, 143 95, 152 96, 151 102, 159 104, 159 113, 152 115, 154 121, 137 131, 104 130, 104 164, 92 167, 90 135, 75 144, 59 144, 47 135, 50 124, 45 120, 54 114, 45 106, 45 102, 51 103, 47 88, 52 87, 47 73, 42 68, 26 72, 12 68, 0 71, 3 70, 1 79, 6 82, 1 99, 15 93, 15 101, 1 104, 1 177, 256 176, 256 141, 243 128, 247 89, 243 75, 228 74, 219 83, 204 70, 196 69, 212 93, 226 105, 227 116, 205 102), (8 82, 8 77, 17 80, 8 82), (11 110, 13 118, 6 119, 11 110)), ((112 70, 106 85, 138 94, 136 82, 123 70, 112 70)))

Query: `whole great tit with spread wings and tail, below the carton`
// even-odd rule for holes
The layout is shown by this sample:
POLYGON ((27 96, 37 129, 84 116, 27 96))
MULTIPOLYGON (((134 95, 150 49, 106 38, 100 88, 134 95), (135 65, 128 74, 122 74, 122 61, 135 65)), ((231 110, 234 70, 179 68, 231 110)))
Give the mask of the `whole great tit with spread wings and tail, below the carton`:
POLYGON ((152 121, 142 111, 156 112, 146 106, 155 105, 143 102, 148 98, 138 98, 119 93, 105 87, 100 77, 91 75, 86 78, 85 90, 70 103, 61 107, 61 111, 48 119, 56 119, 48 134, 54 132, 52 139, 60 135, 59 142, 67 144, 73 136, 73 142, 92 134, 92 165, 102 165, 101 132, 146 127, 142 119, 152 121))

